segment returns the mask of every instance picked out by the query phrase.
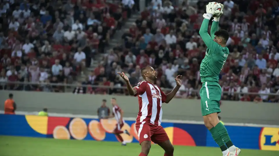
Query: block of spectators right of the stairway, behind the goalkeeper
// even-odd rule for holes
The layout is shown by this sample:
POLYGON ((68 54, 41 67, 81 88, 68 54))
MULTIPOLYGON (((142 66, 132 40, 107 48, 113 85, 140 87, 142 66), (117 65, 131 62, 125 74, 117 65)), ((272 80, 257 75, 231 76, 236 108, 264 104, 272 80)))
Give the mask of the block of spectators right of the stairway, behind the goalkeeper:
MULTIPOLYGON (((230 33, 227 42, 230 55, 219 80, 222 99, 278 102, 278 1, 225 0, 221 3, 225 8, 219 26, 230 33), (242 94, 247 92, 255 95, 242 94), (269 93, 275 95, 265 95, 269 93)), ((167 0, 151 1, 122 36, 123 46, 108 51, 99 67, 89 75, 88 83, 111 88, 125 86, 116 74, 125 72, 131 84, 136 84, 142 80, 140 68, 153 66, 158 72, 155 83, 161 88, 171 90, 176 85, 174 77, 183 75, 183 85, 176 97, 199 98, 199 65, 207 47, 198 31, 206 4, 208 1, 198 1, 191 6, 184 1, 173 6, 167 0)), ((109 89, 106 93, 125 93, 125 90, 109 89)))

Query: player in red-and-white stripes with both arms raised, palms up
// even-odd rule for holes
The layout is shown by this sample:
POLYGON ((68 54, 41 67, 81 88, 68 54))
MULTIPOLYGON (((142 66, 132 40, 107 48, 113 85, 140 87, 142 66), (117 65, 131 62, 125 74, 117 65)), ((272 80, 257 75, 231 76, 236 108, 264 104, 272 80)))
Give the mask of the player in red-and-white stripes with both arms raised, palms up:
POLYGON ((138 96, 140 110, 137 114, 136 130, 142 146, 139 156, 148 155, 151 141, 164 149, 164 156, 173 156, 174 146, 172 146, 167 133, 161 126, 162 103, 169 103, 179 90, 181 76, 178 75, 175 78, 176 87, 166 95, 159 86, 154 85, 157 79, 157 72, 150 66, 142 68, 141 74, 144 81, 139 82, 134 88, 124 73, 118 74, 126 81, 129 94, 138 96))

